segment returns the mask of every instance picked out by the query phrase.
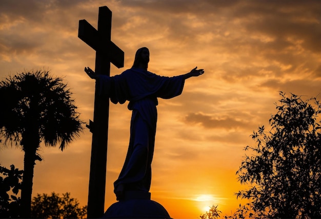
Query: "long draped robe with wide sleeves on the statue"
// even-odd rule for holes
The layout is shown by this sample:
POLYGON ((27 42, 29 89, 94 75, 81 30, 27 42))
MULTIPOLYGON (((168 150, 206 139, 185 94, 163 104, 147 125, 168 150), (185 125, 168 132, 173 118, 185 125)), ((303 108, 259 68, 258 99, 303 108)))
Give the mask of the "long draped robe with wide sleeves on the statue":
POLYGON ((184 82, 183 76, 158 76, 136 68, 112 77, 99 75, 96 82, 99 95, 109 97, 115 104, 123 104, 128 100, 128 109, 132 111, 126 160, 114 182, 117 200, 121 199, 119 192, 149 191, 156 134, 157 97, 169 99, 180 95, 184 82))

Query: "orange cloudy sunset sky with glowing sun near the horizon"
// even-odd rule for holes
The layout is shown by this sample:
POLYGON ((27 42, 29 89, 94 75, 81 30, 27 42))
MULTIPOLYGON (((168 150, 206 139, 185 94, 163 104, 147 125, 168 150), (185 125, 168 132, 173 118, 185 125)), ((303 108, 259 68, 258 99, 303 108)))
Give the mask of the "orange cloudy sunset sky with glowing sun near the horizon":
MULTIPOLYGON (((50 70, 68 83, 81 119, 93 119, 95 52, 77 37, 78 20, 97 28, 98 7, 112 11, 112 41, 129 69, 138 48, 150 50, 149 71, 164 76, 194 67, 182 95, 159 99, 152 200, 173 218, 197 218, 207 206, 230 214, 244 188, 236 170, 250 135, 268 126, 279 91, 321 93, 320 1, 0 1, 0 80, 17 72, 50 70)), ((105 210, 116 202, 113 182, 123 166, 131 112, 111 104, 105 210)), ((84 125, 85 127, 85 125, 84 125)), ((33 194, 71 192, 87 205, 91 133, 85 127, 63 152, 42 146, 33 194)), ((23 169, 20 148, 0 143, 0 164, 23 169)))

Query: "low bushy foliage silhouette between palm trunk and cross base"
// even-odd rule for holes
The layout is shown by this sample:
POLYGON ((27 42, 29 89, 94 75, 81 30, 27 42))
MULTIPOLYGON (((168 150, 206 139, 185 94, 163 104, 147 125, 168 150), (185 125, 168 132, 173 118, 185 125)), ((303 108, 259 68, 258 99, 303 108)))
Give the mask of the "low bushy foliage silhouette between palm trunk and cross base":
POLYGON ((86 215, 87 206, 79 207, 77 199, 71 198, 69 192, 62 197, 54 192, 37 194, 32 199, 32 218, 86 218, 86 215))

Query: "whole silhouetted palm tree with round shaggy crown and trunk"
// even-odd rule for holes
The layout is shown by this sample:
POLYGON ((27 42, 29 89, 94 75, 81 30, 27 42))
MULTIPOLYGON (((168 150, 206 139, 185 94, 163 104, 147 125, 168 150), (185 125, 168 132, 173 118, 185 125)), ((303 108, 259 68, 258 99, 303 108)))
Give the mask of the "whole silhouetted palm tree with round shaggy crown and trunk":
POLYGON ((82 132, 67 84, 49 71, 21 72, 0 82, 0 134, 25 152, 21 217, 30 217, 33 169, 40 143, 63 150, 82 132))

